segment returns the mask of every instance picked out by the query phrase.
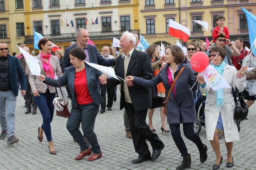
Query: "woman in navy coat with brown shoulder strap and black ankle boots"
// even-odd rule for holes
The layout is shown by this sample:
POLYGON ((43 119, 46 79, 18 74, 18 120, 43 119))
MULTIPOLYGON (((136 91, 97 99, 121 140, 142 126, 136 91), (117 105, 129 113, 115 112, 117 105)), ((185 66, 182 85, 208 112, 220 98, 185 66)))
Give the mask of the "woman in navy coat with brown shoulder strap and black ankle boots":
POLYGON ((198 134, 194 132, 196 109, 194 98, 189 89, 189 85, 193 86, 196 82, 193 70, 191 67, 182 63, 185 56, 179 46, 168 46, 165 52, 167 64, 152 80, 144 80, 138 77, 128 76, 126 81, 133 81, 133 83, 143 87, 153 87, 162 82, 167 96, 173 80, 181 68, 186 66, 179 78, 177 78, 166 106, 167 123, 169 123, 173 140, 183 156, 182 164, 176 168, 180 170, 185 169, 186 167, 190 168, 191 165, 190 154, 188 154, 185 142, 180 133, 181 123, 183 124, 183 131, 186 138, 193 141, 199 149, 200 162, 202 163, 207 159, 207 146, 202 143, 198 134))

